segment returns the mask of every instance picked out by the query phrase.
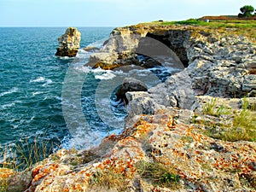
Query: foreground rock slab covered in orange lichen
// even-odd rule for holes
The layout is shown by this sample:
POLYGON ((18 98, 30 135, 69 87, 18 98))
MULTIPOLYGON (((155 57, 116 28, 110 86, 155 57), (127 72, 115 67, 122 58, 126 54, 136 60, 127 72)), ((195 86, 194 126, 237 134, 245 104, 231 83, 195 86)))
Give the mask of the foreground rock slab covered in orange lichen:
MULTIPOLYGON (((230 100, 230 106, 236 102, 230 100)), ((170 108, 138 115, 137 123, 106 137, 97 148, 59 150, 32 168, 26 192, 254 191, 255 143, 209 137, 203 124, 185 125, 185 114, 186 110, 170 108), (159 177, 145 178, 143 172, 163 172, 160 177, 172 175, 176 180, 170 177, 160 184, 159 177)))

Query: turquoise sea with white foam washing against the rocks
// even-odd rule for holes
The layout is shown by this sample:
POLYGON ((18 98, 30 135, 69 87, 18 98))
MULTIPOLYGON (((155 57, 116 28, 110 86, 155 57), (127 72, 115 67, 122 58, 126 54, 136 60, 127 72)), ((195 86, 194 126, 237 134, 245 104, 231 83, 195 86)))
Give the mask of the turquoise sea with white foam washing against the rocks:
MULTIPOLYGON (((123 79, 143 80, 148 87, 170 75, 161 69, 104 71, 84 66, 101 48, 113 27, 78 27, 79 53, 55 56, 66 27, 0 28, 0 163, 9 146, 37 141, 59 148, 92 148, 124 129, 127 106, 114 92, 123 79)), ((26 145, 26 147, 24 147, 26 145)))

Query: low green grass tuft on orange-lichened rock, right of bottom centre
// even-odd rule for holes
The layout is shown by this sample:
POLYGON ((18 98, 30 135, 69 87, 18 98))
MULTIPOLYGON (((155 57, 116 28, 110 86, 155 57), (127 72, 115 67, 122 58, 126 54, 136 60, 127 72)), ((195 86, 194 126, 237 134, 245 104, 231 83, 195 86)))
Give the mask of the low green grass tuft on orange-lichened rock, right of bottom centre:
POLYGON ((154 185, 167 187, 170 189, 178 188, 180 177, 171 166, 165 166, 160 162, 139 161, 136 165, 137 172, 144 179, 149 179, 154 185))

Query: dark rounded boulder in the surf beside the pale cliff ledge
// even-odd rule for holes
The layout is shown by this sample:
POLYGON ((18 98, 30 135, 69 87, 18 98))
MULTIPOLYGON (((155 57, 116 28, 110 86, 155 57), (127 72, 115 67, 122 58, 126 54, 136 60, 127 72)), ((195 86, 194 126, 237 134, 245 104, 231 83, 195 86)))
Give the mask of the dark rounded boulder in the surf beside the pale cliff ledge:
POLYGON ((128 103, 125 93, 128 91, 147 91, 148 87, 142 81, 133 78, 125 78, 123 84, 119 87, 119 90, 115 94, 117 101, 123 100, 128 103))

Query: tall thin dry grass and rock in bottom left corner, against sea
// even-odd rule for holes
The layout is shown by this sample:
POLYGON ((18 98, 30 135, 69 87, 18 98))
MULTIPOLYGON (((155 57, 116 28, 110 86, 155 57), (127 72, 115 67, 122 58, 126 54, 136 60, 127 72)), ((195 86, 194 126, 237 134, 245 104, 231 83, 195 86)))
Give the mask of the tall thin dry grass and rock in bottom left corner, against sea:
MULTIPOLYGON (((44 137, 44 136, 43 136, 44 137)), ((55 143, 43 137, 31 142, 27 137, 0 151, 0 192, 24 191, 31 181, 32 166, 49 157, 55 143)))

